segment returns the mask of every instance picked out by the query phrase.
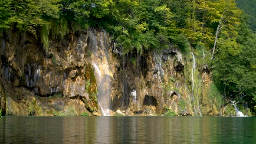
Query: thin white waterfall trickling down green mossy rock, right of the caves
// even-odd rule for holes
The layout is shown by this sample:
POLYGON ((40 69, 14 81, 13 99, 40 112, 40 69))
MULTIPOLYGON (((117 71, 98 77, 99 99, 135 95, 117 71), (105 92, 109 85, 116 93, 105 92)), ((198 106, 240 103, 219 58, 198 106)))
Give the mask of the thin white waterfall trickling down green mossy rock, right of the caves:
MULTIPOLYGON (((197 87, 197 85, 195 84, 194 82, 194 78, 195 78, 195 69, 196 69, 196 58, 195 58, 195 55, 194 55, 194 49, 192 48, 192 56, 193 56, 193 66, 192 66, 192 72, 191 72, 191 79, 192 79, 192 91, 191 91, 191 95, 192 95, 192 100, 193 100, 193 104, 194 104, 194 110, 195 110, 195 113, 197 115, 197 110, 196 110, 196 106, 195 106, 195 98, 194 98, 194 89, 195 89, 195 86, 197 87)), ((200 114, 200 116, 202 116, 202 113, 200 111, 200 106, 199 106, 199 98, 198 98, 198 95, 197 95, 197 107, 198 107, 198 112, 200 114)))

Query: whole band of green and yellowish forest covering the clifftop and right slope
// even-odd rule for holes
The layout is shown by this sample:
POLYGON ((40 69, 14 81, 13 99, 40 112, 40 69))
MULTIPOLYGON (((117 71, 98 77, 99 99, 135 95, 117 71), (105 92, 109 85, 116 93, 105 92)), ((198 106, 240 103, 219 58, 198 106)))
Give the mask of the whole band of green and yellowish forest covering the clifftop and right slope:
POLYGON ((256 2, 237 3, 248 15, 235 0, 1 0, 0 31, 30 32, 44 49, 90 27, 110 33, 121 55, 193 47, 226 100, 256 109, 256 2))

